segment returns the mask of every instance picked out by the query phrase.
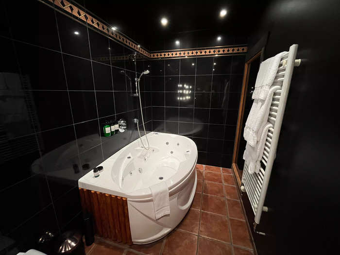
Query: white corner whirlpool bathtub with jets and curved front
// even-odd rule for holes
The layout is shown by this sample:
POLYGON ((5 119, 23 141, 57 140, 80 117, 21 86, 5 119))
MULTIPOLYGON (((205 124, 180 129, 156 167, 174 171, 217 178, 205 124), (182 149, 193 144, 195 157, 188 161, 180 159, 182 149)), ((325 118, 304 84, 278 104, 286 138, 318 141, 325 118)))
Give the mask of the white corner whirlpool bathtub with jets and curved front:
MULTIPOLYGON (((137 139, 100 164, 99 177, 91 170, 78 181, 80 188, 126 198, 136 244, 153 242, 174 229, 186 215, 197 185, 197 147, 191 139, 155 132, 147 136, 150 150, 137 139), (155 220, 149 187, 162 181, 169 188, 170 215, 155 220)), ((145 136, 142 139, 145 144, 145 136)))

